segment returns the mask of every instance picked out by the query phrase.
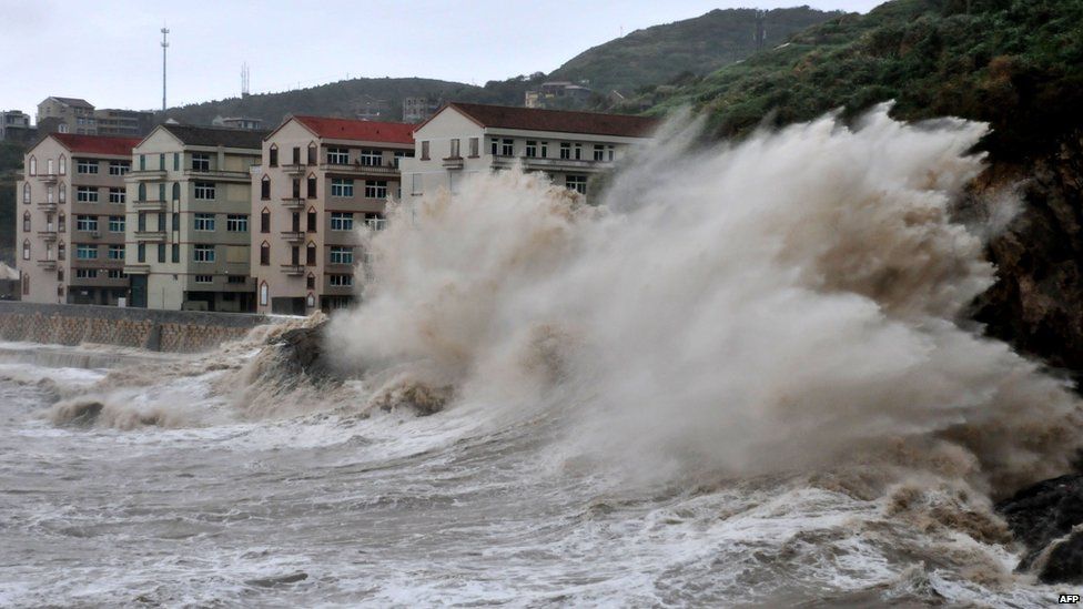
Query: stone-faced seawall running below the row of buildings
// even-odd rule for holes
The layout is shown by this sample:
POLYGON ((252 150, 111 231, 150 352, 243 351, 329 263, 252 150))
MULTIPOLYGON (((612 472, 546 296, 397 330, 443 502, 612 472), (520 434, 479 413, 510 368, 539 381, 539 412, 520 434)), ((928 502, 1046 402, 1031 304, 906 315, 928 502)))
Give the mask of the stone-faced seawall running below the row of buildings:
POLYGON ((0 302, 0 339, 101 343, 170 353, 208 351, 272 322, 265 315, 0 302))

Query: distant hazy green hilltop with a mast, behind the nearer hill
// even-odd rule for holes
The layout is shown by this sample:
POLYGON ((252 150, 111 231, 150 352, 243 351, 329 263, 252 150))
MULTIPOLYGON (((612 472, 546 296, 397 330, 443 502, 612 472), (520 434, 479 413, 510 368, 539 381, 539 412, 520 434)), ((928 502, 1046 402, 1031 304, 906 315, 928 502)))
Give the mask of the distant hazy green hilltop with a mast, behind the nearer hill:
POLYGON ((695 19, 636 30, 628 35, 579 53, 548 75, 549 80, 588 81, 606 94, 628 95, 644 85, 661 84, 690 72, 707 74, 745 59, 757 50, 762 22, 763 48, 785 42, 790 34, 842 13, 808 7, 713 10, 695 19))

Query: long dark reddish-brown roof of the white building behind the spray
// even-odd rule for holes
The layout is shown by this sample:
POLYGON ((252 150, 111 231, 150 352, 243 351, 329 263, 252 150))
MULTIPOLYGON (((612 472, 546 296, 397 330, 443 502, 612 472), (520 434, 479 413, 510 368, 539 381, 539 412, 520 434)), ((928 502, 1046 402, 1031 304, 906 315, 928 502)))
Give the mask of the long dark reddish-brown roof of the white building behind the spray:
POLYGON ((482 126, 522 129, 524 131, 647 138, 659 124, 657 119, 629 116, 627 114, 599 114, 597 112, 570 112, 459 102, 452 102, 448 105, 466 114, 482 126))

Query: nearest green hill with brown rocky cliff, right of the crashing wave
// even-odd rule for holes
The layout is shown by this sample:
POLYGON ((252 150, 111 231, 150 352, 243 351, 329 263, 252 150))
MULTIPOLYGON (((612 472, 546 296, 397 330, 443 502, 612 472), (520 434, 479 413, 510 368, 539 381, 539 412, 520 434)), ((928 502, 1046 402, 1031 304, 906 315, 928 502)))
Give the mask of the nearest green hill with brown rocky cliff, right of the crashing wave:
POLYGON ((963 211, 1011 187, 1025 205, 989 245, 999 282, 974 318, 1083 379, 1083 0, 894 0, 651 94, 652 113, 700 109, 718 138, 887 100, 900 119, 989 122, 963 211))

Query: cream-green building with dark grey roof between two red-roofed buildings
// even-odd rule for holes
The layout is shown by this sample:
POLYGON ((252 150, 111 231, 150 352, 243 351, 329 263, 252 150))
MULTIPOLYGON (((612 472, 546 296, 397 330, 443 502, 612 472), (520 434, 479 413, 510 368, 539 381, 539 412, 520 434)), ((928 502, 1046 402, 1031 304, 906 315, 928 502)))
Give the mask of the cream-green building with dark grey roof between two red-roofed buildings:
POLYGON ((254 308, 251 166, 264 135, 163 124, 139 142, 128 175, 131 306, 254 308))

